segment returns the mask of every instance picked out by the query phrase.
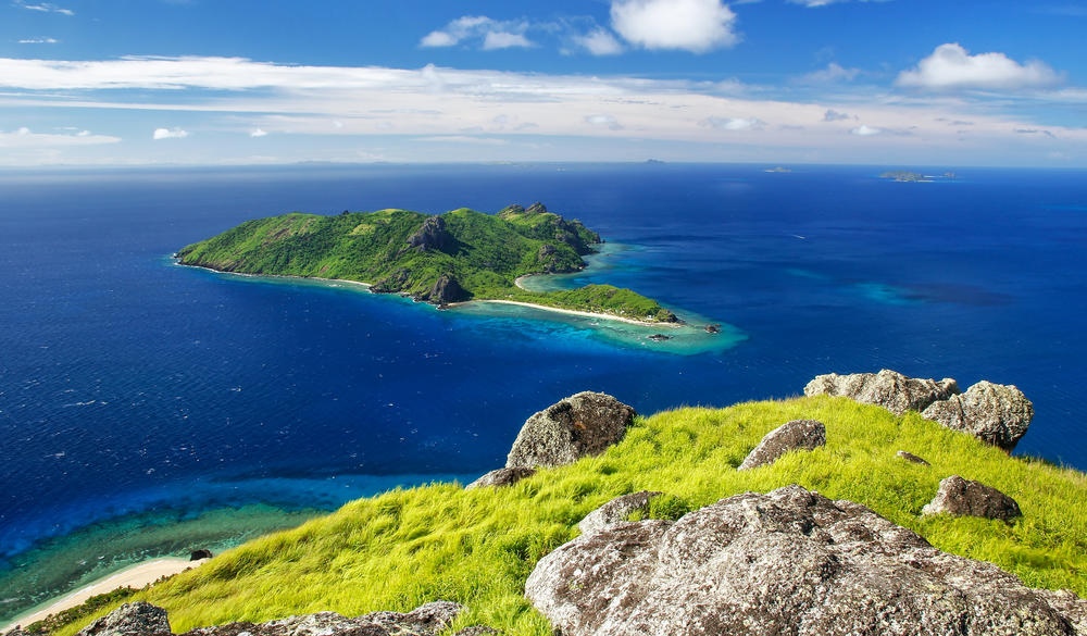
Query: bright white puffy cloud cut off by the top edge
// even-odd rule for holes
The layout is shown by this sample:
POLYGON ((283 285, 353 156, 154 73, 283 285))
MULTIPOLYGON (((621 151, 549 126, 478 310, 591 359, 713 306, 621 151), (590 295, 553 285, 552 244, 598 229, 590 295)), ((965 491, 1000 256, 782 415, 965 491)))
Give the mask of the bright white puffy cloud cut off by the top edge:
POLYGON ((704 53, 739 41, 720 0, 613 0, 612 28, 632 45, 704 53))

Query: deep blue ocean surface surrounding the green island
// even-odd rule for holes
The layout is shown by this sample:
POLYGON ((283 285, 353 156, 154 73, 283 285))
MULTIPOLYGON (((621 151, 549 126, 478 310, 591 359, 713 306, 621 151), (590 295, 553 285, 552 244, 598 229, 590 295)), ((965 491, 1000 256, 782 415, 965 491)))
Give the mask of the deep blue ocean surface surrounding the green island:
POLYGON ((1087 470, 1087 174, 766 167, 0 173, 0 619, 133 560, 472 479, 582 390, 652 413, 796 396, 829 372, 990 379, 1034 401, 1016 454, 1087 470), (535 201, 608 241, 545 284, 630 287, 723 333, 658 344, 171 259, 288 211, 535 201))

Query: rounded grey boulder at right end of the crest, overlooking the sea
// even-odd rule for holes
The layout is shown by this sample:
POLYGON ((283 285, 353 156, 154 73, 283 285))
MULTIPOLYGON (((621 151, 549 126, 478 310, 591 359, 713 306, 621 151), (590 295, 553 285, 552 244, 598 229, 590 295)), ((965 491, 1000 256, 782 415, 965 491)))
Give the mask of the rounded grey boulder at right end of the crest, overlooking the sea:
POLYGON ((1014 385, 983 381, 935 402, 922 416, 1011 451, 1034 419, 1034 404, 1014 385))

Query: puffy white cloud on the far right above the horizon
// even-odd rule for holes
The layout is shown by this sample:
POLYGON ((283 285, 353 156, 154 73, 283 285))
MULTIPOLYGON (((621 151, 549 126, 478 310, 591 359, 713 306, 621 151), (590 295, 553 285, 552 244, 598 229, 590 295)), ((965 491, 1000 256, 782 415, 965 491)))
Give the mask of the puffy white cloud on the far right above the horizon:
POLYGON ((1005 89, 1052 86, 1060 76, 1037 60, 1020 64, 1003 53, 971 55, 961 45, 936 47, 915 68, 899 73, 895 84, 926 90, 1005 89))

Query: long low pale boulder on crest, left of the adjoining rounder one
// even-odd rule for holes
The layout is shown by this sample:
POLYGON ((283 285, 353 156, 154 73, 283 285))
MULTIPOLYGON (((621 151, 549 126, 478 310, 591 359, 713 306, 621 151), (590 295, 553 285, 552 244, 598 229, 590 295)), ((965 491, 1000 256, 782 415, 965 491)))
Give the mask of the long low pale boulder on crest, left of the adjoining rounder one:
POLYGON ((884 369, 879 373, 817 375, 804 387, 805 396, 844 396, 865 404, 880 406, 896 415, 907 411, 923 411, 937 400, 946 400, 959 392, 959 385, 951 378, 921 379, 907 377, 884 369))

